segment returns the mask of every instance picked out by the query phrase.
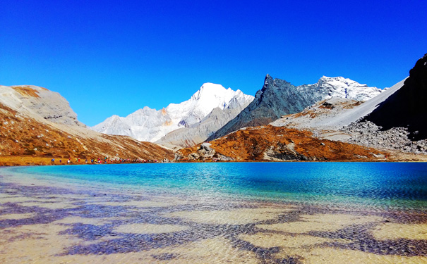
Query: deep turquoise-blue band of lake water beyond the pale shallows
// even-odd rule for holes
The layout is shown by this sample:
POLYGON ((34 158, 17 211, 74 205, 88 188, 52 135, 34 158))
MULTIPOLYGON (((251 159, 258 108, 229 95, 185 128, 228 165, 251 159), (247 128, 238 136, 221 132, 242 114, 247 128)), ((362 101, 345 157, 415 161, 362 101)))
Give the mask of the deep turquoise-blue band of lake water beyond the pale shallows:
POLYGON ((212 199, 427 208, 427 163, 150 163, 3 170, 212 199))

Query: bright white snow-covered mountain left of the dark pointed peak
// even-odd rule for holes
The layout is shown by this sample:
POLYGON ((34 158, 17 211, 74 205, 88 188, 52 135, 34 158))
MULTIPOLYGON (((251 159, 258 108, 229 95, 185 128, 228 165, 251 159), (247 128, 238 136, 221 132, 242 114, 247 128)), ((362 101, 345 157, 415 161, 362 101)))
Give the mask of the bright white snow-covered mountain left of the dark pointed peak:
POLYGON ((113 115, 92 130, 105 134, 128 135, 140 141, 155 142, 169 132, 200 122, 214 108, 224 110, 231 105, 245 105, 253 96, 240 90, 225 89, 222 85, 205 83, 191 99, 171 103, 156 110, 145 106, 124 117, 113 115))

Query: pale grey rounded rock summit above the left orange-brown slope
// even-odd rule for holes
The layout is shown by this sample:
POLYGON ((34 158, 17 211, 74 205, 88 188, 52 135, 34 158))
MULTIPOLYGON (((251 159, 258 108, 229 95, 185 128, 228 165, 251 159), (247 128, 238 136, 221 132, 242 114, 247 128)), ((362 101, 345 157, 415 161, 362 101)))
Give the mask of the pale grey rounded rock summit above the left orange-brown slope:
POLYGON ((32 118, 85 126, 61 94, 34 85, 0 86, 0 103, 32 118))

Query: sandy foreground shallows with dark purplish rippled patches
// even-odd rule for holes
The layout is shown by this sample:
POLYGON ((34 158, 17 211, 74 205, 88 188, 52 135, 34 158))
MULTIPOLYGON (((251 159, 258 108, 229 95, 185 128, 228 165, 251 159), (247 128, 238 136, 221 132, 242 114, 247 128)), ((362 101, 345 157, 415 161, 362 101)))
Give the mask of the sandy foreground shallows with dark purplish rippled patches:
POLYGON ((427 263, 423 210, 208 200, 12 176, 1 176, 0 188, 0 263, 427 263))

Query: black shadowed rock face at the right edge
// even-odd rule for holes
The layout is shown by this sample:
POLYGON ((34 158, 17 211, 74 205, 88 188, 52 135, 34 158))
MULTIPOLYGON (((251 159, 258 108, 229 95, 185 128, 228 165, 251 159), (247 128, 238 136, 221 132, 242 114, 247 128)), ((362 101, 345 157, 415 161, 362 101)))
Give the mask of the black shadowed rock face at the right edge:
POLYGON ((427 54, 416 62, 409 77, 364 120, 373 122, 381 130, 405 127, 414 140, 427 139, 427 54))

